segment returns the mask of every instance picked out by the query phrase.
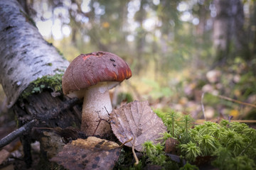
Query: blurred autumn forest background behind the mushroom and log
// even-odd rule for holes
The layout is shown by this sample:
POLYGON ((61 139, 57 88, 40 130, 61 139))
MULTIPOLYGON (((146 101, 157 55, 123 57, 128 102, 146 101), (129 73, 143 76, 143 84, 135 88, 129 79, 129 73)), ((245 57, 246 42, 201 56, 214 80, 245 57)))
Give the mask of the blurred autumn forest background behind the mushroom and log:
MULTIPOLYGON (((256 119, 253 106, 223 99, 256 104, 255 0, 27 0, 24 6, 70 62, 102 50, 129 64, 132 78, 112 91, 118 101, 149 100, 153 108, 193 118, 256 119)), ((2 89, 0 98, 4 111, 2 89)))

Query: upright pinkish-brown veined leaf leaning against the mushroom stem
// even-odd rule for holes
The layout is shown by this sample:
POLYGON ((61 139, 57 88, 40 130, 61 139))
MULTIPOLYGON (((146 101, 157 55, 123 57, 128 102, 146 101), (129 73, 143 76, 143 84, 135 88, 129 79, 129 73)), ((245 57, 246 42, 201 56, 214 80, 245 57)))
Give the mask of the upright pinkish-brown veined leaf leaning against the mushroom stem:
POLYGON ((146 141, 159 142, 160 133, 166 132, 166 127, 148 101, 134 101, 112 111, 110 114, 111 128, 114 135, 122 143, 133 138, 125 145, 142 152, 142 144, 146 141))

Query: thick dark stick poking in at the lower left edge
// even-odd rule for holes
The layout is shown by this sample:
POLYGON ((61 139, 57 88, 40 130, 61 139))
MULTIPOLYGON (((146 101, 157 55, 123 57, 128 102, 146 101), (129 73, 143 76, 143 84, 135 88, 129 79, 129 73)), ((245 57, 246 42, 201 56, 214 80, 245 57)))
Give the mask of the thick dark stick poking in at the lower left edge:
POLYGON ((14 130, 14 132, 11 132, 9 135, 7 135, 6 137, 0 140, 0 148, 4 147, 5 145, 8 145, 9 143, 11 143, 11 141, 21 136, 24 132, 27 132, 28 130, 30 130, 31 127, 35 124, 36 124, 36 120, 31 120, 25 125, 21 126, 21 128, 18 128, 17 130, 14 130))

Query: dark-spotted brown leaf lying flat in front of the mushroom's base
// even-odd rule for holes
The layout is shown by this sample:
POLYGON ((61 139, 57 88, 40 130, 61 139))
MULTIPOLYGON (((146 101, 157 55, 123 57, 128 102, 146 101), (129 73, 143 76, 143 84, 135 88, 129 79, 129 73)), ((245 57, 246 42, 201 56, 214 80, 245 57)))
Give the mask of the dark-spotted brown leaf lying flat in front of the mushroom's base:
POLYGON ((56 162, 65 169, 113 169, 121 147, 117 143, 88 137, 86 140, 73 140, 63 147, 51 162, 56 162))

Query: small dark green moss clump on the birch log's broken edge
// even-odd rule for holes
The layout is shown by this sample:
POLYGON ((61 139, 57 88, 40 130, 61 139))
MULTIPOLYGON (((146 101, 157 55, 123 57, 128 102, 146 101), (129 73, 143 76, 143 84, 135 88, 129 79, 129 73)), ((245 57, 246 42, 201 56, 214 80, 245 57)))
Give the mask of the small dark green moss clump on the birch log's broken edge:
POLYGON ((28 98, 31 94, 41 93, 43 89, 52 89, 54 92, 61 92, 63 74, 53 76, 46 75, 31 82, 28 87, 21 93, 19 99, 28 98))

